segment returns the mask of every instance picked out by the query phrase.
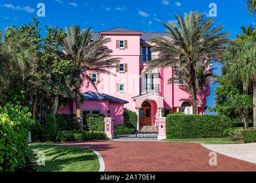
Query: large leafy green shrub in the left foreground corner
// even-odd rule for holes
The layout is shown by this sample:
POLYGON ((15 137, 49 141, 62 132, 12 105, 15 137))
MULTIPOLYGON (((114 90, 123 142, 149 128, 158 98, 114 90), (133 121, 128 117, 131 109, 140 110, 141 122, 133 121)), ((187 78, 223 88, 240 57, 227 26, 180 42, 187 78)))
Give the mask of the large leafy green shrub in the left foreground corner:
POLYGON ((28 110, 10 104, 0 106, 0 172, 25 166, 29 126, 34 124, 28 110))

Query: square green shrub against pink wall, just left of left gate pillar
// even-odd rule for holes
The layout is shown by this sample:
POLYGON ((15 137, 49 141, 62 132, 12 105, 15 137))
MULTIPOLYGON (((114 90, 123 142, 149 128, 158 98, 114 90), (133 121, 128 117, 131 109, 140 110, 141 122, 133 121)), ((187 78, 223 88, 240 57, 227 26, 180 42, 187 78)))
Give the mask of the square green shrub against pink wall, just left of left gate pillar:
POLYGON ((104 132, 104 114, 87 114, 87 125, 89 131, 104 132))

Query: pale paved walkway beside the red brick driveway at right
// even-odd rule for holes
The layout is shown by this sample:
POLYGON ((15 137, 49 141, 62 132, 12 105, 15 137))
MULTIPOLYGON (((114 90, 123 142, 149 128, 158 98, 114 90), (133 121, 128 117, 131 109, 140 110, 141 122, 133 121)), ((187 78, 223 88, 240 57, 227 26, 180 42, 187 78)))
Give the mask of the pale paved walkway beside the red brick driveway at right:
MULTIPOLYGON (((203 145, 215 152, 256 164, 256 143, 203 145)), ((255 170, 256 171, 256 170, 255 170)))

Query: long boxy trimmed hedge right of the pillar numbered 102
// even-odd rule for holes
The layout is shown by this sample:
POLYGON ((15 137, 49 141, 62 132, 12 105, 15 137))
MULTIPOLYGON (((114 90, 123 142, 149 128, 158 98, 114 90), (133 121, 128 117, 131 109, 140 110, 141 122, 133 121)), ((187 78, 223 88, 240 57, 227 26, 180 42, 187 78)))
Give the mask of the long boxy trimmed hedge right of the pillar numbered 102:
POLYGON ((179 115, 169 114, 166 119, 167 138, 224 137, 223 131, 231 127, 225 115, 179 115))

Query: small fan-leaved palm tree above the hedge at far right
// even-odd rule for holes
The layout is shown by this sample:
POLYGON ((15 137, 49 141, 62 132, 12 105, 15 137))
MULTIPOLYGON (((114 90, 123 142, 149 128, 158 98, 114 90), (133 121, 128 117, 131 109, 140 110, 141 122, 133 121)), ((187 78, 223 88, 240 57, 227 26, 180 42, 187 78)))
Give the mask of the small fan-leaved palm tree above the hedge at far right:
POLYGON ((242 120, 243 126, 245 129, 248 129, 248 121, 245 121, 246 114, 243 109, 252 108, 253 100, 251 96, 247 96, 246 94, 235 94, 235 96, 231 96, 225 103, 224 108, 226 110, 235 109, 238 112, 238 117, 242 120))

